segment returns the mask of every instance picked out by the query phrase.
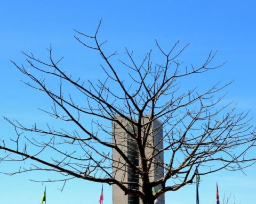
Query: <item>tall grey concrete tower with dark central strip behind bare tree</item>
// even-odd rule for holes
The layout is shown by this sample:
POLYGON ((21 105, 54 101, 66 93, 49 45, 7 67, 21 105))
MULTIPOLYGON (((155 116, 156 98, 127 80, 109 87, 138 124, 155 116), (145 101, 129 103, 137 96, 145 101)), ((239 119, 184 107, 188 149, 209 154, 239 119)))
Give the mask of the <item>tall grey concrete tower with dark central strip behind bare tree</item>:
MULTIPOLYGON (((118 120, 122 123, 123 126, 126 127, 129 132, 133 132, 133 128, 129 122, 124 120, 121 117, 118 117, 118 120)), ((147 116, 143 118, 143 124, 148 122, 147 116)), ((117 123, 112 124, 113 130, 113 143, 125 153, 125 155, 133 162, 133 164, 139 166, 139 152, 137 143, 131 137, 129 133, 126 133, 124 129, 117 123)), ((143 130, 142 130, 143 134, 143 130)), ((157 152, 158 149, 163 148, 163 128, 161 122, 155 120, 153 125, 150 127, 150 134, 147 139, 146 146, 146 157, 150 157, 152 155, 153 146, 156 146, 154 153, 157 152), (154 141, 153 141, 154 140, 154 141)), ((119 155, 119 153, 113 149, 113 176, 119 182, 122 182, 128 188, 132 189, 140 189, 141 180, 129 165, 127 165, 124 159, 119 155)), ((164 168, 161 164, 164 162, 163 152, 158 154, 156 158, 154 158, 153 163, 150 167, 150 181, 155 181, 164 176, 164 168)), ((156 186, 156 190, 159 189, 159 186, 156 186)), ((119 189, 117 185, 113 185, 113 204, 140 204, 142 201, 132 195, 126 195, 124 192, 119 189)), ((158 198, 157 204, 164 204, 164 195, 158 198)))

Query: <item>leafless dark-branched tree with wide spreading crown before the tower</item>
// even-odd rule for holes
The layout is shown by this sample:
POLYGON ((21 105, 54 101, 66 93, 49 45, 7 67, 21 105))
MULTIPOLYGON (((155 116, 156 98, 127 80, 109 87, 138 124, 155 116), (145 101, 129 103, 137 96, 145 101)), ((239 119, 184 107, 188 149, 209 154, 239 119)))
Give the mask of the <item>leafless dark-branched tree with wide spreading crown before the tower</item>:
MULTIPOLYGON (((206 175, 221 169, 241 170, 254 163, 255 158, 246 155, 255 146, 256 138, 247 113, 237 113, 231 103, 220 103, 225 94, 213 98, 229 83, 223 86, 218 83, 204 92, 194 87, 189 87, 186 92, 181 90, 181 79, 223 65, 211 65, 215 53, 210 52, 202 66, 186 67, 178 57, 187 45, 177 52, 177 42, 165 52, 156 41, 159 55, 164 59, 161 63, 153 62, 151 50, 140 63, 128 49, 125 49, 125 55, 129 60, 115 60, 117 52, 106 54, 103 51, 106 41, 99 41, 99 28, 100 23, 92 36, 75 30, 75 38, 100 54, 105 80, 95 83, 73 78, 61 68, 62 58, 54 60, 51 47, 48 49, 50 59, 46 61, 23 53, 30 71, 12 61, 29 78, 30 81, 25 82, 29 87, 43 92, 53 101, 51 111, 42 111, 76 128, 68 130, 65 123, 59 129, 50 124, 44 129, 36 124, 29 128, 5 118, 14 126, 17 137, 2 138, 0 149, 5 156, 1 162, 31 160, 29 168, 20 168, 10 175, 30 171, 58 172, 63 176, 58 181, 66 183, 78 178, 114 184, 124 194, 152 204, 167 191, 177 191, 193 184, 196 167, 200 175, 206 175), (129 70, 125 79, 118 73, 119 67, 129 70), (49 87, 47 79, 57 81, 58 88, 49 87), (143 121, 145 115, 146 123, 143 121), (162 141, 159 141, 164 143, 162 149, 148 140, 158 131, 159 127, 152 128, 156 120, 161 121, 164 132, 162 141), (119 125, 135 142, 139 164, 127 156, 123 144, 115 139, 113 124, 119 125), (33 148, 29 148, 31 146, 33 148), (150 154, 145 151, 148 147, 151 148, 150 154), (113 149, 122 159, 113 158, 113 149), (51 158, 45 154, 48 151, 54 152, 51 158), (155 158, 162 152, 165 153, 165 162, 160 163, 155 158), (139 176, 140 188, 133 189, 132 185, 118 180, 112 172, 113 163, 133 169, 139 176), (155 181, 150 181, 150 172, 156 166, 152 164, 164 168, 164 175, 155 181), (155 186, 158 189, 153 193, 155 186)), ((119 170, 129 173, 126 168, 120 167, 119 170)))

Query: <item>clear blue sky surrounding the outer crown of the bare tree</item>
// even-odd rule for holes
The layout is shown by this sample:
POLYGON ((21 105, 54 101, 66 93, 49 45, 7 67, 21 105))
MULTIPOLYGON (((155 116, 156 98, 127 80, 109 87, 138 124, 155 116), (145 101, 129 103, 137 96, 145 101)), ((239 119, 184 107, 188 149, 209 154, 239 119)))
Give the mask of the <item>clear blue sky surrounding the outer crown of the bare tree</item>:
MULTIPOLYGON (((225 100, 235 100, 238 109, 251 109, 256 115, 255 55, 256 2, 245 1, 0 1, 0 115, 25 124, 46 123, 38 107, 48 107, 44 95, 29 89, 20 80, 25 77, 9 62, 25 62, 21 51, 46 56, 51 43, 55 55, 65 57, 70 73, 84 79, 101 77, 97 57, 79 45, 73 29, 93 32, 102 18, 101 38, 108 40, 108 50, 124 51, 125 47, 143 54, 155 48, 158 39, 165 48, 178 39, 190 43, 184 54, 188 63, 200 63, 210 50, 218 50, 216 62, 228 63, 200 79, 205 86, 235 79, 225 100), (87 67, 87 68, 86 68, 87 67), (92 67, 88 69, 88 67, 92 67), (86 70, 86 71, 85 71, 86 70)), ((193 85, 189 81, 188 86, 193 85)), ((50 104, 49 104, 50 106, 50 104)), ((255 119, 253 120, 255 123, 255 119)), ((14 135, 9 124, 0 118, 0 138, 14 135)), ((15 171, 18 165, 0 164, 0 171, 15 171)), ((215 203, 215 182, 220 198, 234 193, 237 203, 251 204, 256 200, 256 165, 242 172, 221 171, 202 176, 201 203, 215 203)), ((44 186, 28 179, 47 178, 45 173, 0 175, 0 203, 39 203, 44 186)), ((61 183, 47 184, 47 204, 98 203, 101 184, 74 180, 61 193, 61 183)), ((105 204, 111 204, 111 186, 105 185, 105 204)), ((195 186, 166 193, 166 204, 195 202, 195 186)))

